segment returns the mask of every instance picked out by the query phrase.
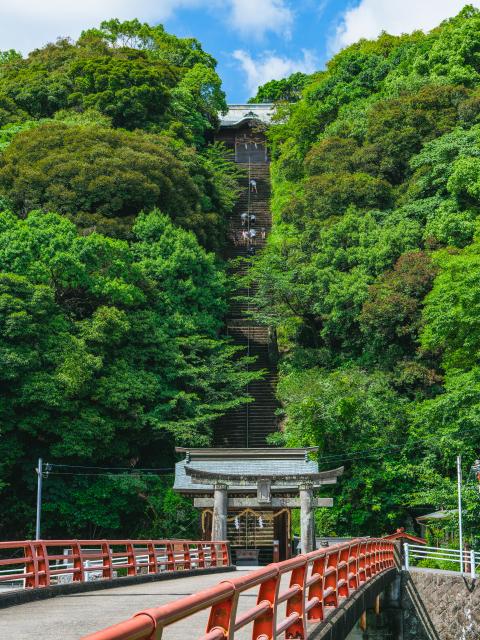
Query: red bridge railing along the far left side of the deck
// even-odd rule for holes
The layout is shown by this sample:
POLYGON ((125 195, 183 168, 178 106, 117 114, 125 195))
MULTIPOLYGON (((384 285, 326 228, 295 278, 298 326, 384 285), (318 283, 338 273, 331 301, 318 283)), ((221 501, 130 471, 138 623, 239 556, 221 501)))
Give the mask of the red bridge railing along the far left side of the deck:
POLYGON ((21 540, 0 542, 0 583, 26 589, 138 574, 222 567, 228 542, 21 540))

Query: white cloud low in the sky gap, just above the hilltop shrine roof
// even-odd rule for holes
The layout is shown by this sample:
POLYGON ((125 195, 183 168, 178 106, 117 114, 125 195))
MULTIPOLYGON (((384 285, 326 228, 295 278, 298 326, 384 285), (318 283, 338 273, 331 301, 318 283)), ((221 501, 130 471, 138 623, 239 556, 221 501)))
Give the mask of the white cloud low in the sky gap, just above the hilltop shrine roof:
POLYGON ((251 95, 255 95, 260 85, 269 80, 286 78, 295 71, 313 73, 317 66, 315 55, 307 49, 302 49, 302 56, 298 59, 279 56, 274 52, 265 51, 254 59, 243 49, 233 52, 233 57, 240 63, 247 76, 247 86, 251 95))

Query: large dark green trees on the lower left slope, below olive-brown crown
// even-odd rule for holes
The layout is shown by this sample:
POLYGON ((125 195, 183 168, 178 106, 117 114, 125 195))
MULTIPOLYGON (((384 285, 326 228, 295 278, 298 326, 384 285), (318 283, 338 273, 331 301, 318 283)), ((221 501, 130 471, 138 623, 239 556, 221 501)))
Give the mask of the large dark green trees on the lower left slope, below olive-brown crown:
MULTIPOLYGON (((38 455, 171 467, 175 444, 208 444, 211 423, 247 400, 256 374, 219 337, 226 280, 215 257, 158 211, 140 216, 134 233, 129 246, 78 235, 57 214, 0 216, 3 537, 32 521, 38 455)), ((95 523, 113 535, 161 509, 142 478, 53 478, 57 535, 87 535, 95 523), (148 500, 135 500, 140 493, 148 500), (89 511, 95 496, 103 499, 89 511)))

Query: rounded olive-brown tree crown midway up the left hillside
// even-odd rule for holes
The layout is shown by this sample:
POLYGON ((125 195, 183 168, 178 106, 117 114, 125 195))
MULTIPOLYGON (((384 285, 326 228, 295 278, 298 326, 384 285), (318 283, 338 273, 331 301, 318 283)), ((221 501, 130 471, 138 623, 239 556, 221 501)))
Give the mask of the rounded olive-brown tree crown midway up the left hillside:
POLYGON ((83 229, 119 237, 130 235, 140 211, 158 206, 218 246, 236 183, 235 171, 213 153, 205 159, 139 131, 45 123, 11 140, 0 158, 0 192, 19 214, 57 211, 83 229))

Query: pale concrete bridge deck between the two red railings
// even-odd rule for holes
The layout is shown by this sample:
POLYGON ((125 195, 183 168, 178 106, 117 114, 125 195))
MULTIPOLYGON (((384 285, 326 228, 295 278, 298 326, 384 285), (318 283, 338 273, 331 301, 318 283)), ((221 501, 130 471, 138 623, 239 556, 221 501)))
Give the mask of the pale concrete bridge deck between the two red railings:
MULTIPOLYGON (((249 568, 236 572, 216 572, 190 575, 171 580, 118 586, 98 591, 87 591, 70 595, 20 604, 0 609, 0 638, 15 640, 79 640, 105 627, 130 618, 134 613, 149 607, 172 603, 184 596, 198 593, 222 580, 245 575, 249 568)), ((371 606, 368 601, 383 591, 396 574, 387 570, 374 577, 345 599, 331 619, 310 623, 309 638, 312 640, 344 640, 360 614, 371 606)), ((280 591, 288 587, 290 576, 284 575, 280 591)), ((258 588, 240 594, 237 615, 241 615, 256 603, 258 588)), ((278 606, 278 618, 285 617, 286 604, 278 606)), ((209 609, 180 620, 164 630, 165 640, 197 640, 205 633, 209 609)), ((251 640, 251 625, 235 633, 235 640, 251 640)))

